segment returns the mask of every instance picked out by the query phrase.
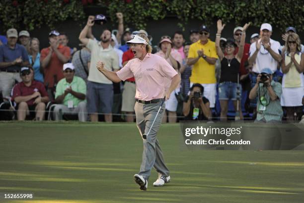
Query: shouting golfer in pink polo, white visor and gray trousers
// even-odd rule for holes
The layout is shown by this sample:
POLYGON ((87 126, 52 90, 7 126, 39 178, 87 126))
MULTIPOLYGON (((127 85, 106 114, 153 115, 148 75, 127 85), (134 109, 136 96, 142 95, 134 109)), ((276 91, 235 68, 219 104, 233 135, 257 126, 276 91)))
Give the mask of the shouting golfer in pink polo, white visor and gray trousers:
POLYGON ((171 92, 180 83, 180 77, 164 58, 151 54, 152 47, 146 35, 134 35, 127 43, 131 44, 135 59, 130 60, 118 72, 108 71, 101 61, 97 63, 97 69, 115 83, 135 77, 137 89, 134 110, 137 127, 143 137, 144 151, 140 172, 134 175, 134 180, 141 190, 147 190, 152 167, 159 173, 153 186, 163 186, 170 182, 169 170, 156 139, 165 104, 161 106, 158 114, 157 110, 164 99, 170 98, 171 92), (170 80, 171 83, 168 83, 170 80))

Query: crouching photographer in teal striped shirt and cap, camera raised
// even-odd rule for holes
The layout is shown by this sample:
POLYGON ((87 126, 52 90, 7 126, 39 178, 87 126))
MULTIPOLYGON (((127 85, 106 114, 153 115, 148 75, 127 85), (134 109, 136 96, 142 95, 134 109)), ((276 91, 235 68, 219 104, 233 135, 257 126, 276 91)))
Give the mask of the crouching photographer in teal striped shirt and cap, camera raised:
POLYGON ((251 89, 249 99, 257 98, 257 116, 255 122, 281 122, 283 109, 280 103, 282 86, 272 80, 272 71, 264 68, 257 76, 256 84, 251 89))

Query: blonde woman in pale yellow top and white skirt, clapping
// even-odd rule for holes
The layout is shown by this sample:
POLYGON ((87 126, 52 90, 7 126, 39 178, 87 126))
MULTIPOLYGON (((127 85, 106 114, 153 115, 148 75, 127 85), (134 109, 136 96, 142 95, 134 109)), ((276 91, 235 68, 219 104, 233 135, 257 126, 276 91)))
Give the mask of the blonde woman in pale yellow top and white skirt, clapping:
POLYGON ((286 53, 282 61, 281 105, 286 108, 287 120, 296 120, 302 114, 304 96, 304 55, 298 34, 289 34, 285 43, 286 53))

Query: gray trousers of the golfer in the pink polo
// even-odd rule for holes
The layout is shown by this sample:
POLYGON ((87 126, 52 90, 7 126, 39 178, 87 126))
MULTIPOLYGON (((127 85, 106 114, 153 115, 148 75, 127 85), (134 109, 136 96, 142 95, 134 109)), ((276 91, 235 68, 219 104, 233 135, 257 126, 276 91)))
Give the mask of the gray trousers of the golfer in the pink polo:
MULTIPOLYGON (((135 103, 135 114, 136 114, 136 124, 143 137, 143 134, 148 134, 152 122, 156 116, 157 110, 159 109, 160 102, 143 104, 135 103)), ((162 116, 165 113, 165 104, 162 105, 157 118, 152 126, 147 139, 143 139, 144 151, 143 151, 143 161, 141 164, 141 169, 139 175, 146 176, 147 180, 151 175, 152 167, 156 169, 158 173, 163 176, 169 176, 169 169, 164 163, 162 151, 159 146, 159 142, 156 139, 158 129, 161 124, 162 116)))

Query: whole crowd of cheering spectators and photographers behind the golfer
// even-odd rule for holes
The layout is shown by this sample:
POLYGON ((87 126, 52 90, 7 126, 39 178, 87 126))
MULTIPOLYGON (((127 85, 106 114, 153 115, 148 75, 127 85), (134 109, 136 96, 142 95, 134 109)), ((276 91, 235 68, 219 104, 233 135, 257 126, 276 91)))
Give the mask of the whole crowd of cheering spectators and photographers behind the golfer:
MULTIPOLYGON (((124 28, 122 13, 116 17, 118 28, 112 32, 105 26, 104 15, 89 16, 79 34, 79 50, 69 47, 68 35, 57 30, 50 31, 50 46, 42 50, 39 39, 26 30, 18 33, 10 28, 1 36, 0 96, 12 104, 10 109, 16 111, 18 120, 31 114, 43 120, 49 111, 54 120, 75 114, 79 121, 96 122, 103 114, 106 122, 112 122, 118 87, 120 112, 125 121, 134 122, 135 78, 113 84, 98 72, 96 64, 102 61, 106 69, 118 71, 134 59, 126 41, 136 34, 152 36, 145 30, 124 28), (99 39, 92 34, 96 24, 102 28, 99 39)), ((235 118, 244 119, 243 103, 256 122, 280 122, 284 111, 287 120, 301 119, 304 46, 296 28, 286 29, 282 34, 285 44, 281 45, 271 38, 272 26, 263 23, 246 43, 249 24, 235 27, 231 36, 224 38, 225 24, 218 20, 215 42, 207 25, 191 29, 189 39, 182 31, 160 38, 152 53, 164 58, 181 77, 180 86, 166 101, 163 122, 176 122, 177 118, 227 120, 229 101, 235 118)))

